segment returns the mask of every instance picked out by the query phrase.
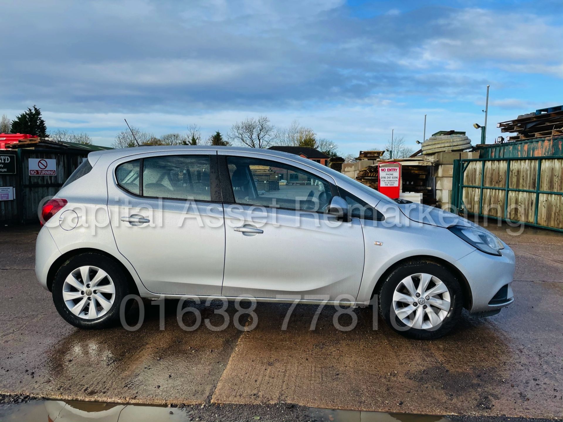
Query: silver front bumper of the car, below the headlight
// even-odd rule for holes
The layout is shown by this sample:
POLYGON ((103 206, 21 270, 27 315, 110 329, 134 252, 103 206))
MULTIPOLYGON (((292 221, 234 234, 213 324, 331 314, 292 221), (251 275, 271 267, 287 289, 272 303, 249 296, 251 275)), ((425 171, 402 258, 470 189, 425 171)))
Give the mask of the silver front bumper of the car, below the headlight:
POLYGON ((454 262, 454 265, 466 277, 471 288, 470 312, 488 313, 504 308, 514 301, 512 292, 515 268, 514 252, 505 245, 501 253, 502 256, 494 256, 475 250, 454 262), (497 295, 499 291, 502 293, 500 296, 497 295), (495 295, 497 295, 496 298, 495 295), (498 297, 501 297, 501 300, 498 297))

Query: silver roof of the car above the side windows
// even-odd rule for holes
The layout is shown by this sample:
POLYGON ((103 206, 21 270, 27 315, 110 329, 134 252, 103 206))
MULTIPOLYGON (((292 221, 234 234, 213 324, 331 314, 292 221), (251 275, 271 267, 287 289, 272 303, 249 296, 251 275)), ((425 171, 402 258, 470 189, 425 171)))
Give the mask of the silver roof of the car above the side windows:
POLYGON ((132 148, 119 148, 119 149, 109 149, 105 151, 95 151, 88 154, 88 161, 90 161, 93 166, 98 159, 104 158, 109 159, 109 161, 114 161, 115 159, 122 157, 134 156, 136 154, 145 153, 158 153, 158 152, 189 152, 190 150, 197 151, 231 151, 231 152, 242 152, 242 153, 261 153, 272 157, 280 158, 291 158, 294 161, 300 161, 303 163, 309 162, 308 159, 297 156, 296 154, 291 154, 287 152, 276 151, 273 149, 263 149, 263 148, 249 148, 243 146, 209 146, 209 145, 159 145, 159 146, 134 146, 132 148))

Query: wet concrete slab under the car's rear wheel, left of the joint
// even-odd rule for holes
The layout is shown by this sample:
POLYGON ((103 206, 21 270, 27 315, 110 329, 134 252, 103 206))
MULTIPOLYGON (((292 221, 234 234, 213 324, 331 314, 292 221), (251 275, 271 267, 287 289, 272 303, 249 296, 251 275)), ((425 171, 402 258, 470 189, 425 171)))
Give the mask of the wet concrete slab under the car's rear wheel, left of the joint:
MULTIPOLYGON (((145 323, 138 331, 122 327, 78 330, 59 316, 50 293, 39 288, 33 271, 0 270, 0 276, 0 393, 131 403, 204 403, 240 334, 230 325, 217 335, 203 322, 198 330, 182 330, 176 321, 177 301, 167 303, 166 329, 162 331, 158 307, 150 304, 145 306, 145 323)), ((215 316, 211 308, 198 308, 203 318, 221 325, 222 317, 215 316)), ((235 312, 231 306, 231 318, 235 312)), ((186 325, 191 323, 189 317, 186 325)))

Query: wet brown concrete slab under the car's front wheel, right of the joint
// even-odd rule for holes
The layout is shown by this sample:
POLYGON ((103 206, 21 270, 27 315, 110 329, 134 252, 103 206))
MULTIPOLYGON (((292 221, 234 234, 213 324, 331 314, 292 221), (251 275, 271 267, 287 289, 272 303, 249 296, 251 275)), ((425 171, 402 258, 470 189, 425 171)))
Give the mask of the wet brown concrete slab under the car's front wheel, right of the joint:
POLYGON ((356 310, 353 331, 333 327, 334 309, 309 331, 314 310, 298 306, 284 332, 288 307, 263 305, 258 327, 240 337, 212 401, 561 417, 561 287, 517 282, 524 303, 489 320, 465 316, 437 341, 404 339, 381 321, 373 331, 368 309, 356 310))

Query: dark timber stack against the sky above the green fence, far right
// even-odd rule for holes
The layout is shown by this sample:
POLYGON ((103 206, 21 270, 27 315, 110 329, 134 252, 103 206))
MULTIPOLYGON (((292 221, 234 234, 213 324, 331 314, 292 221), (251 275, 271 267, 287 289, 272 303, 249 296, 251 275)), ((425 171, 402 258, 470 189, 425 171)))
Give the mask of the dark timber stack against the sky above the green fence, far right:
POLYGON ((563 105, 542 108, 522 114, 514 120, 497 123, 501 132, 516 132, 508 141, 528 140, 563 135, 563 105))

